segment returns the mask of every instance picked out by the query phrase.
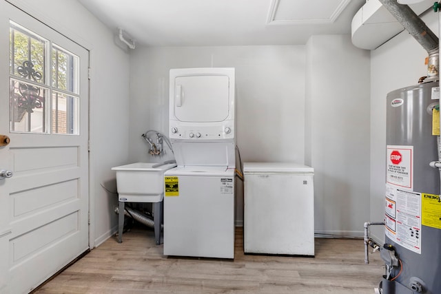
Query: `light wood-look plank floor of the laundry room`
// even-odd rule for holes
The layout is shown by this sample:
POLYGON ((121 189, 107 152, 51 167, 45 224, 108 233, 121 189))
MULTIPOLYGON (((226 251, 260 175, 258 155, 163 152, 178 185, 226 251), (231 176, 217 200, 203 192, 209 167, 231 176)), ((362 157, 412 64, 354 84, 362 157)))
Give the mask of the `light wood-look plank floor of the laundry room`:
POLYGON ((236 230, 234 261, 163 254, 152 230, 110 238, 34 293, 338 293, 373 294, 379 253, 364 263, 363 241, 316 238, 315 258, 244 255, 236 230))

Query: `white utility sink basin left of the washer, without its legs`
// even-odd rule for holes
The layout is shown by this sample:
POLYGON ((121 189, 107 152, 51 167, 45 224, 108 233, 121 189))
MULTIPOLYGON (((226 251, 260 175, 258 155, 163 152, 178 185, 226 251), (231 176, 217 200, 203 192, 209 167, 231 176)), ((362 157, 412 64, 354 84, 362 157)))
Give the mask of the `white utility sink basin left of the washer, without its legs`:
POLYGON ((160 202, 164 198, 164 172, 176 163, 135 162, 112 167, 116 171, 119 201, 160 202))

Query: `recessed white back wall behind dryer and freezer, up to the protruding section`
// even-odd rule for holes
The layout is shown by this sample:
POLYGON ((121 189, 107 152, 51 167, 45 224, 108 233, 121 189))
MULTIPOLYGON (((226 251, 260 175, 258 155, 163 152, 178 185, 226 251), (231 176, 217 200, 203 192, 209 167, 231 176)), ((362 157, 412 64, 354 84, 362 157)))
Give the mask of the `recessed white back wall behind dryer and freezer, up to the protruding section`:
MULTIPOLYGON (((168 135, 169 71, 235 67, 237 144, 243 162, 304 162, 305 46, 136 48, 130 57, 130 160, 149 158, 140 135, 168 135)), ((243 222, 238 193, 236 223, 243 222)))

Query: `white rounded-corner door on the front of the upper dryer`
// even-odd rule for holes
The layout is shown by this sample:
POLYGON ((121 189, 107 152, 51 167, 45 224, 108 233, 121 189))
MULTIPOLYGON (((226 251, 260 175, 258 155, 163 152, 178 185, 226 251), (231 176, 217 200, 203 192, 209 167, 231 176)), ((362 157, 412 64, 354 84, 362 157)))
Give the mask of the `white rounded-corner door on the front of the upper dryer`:
POLYGON ((174 116, 182 122, 220 122, 229 115, 228 76, 177 76, 174 92, 174 116))

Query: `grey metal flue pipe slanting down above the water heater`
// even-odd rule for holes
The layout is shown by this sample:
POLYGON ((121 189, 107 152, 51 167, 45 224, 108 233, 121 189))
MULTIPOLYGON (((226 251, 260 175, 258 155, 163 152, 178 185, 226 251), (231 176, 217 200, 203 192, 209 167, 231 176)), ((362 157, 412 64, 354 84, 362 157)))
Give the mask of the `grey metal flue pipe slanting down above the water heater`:
POLYGON ((398 4, 396 0, 379 1, 429 54, 427 76, 438 76, 438 36, 431 31, 426 23, 424 23, 424 21, 422 21, 422 19, 420 19, 420 17, 418 17, 418 15, 413 12, 409 6, 398 4))

